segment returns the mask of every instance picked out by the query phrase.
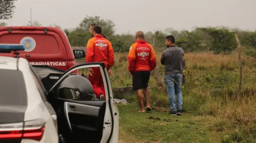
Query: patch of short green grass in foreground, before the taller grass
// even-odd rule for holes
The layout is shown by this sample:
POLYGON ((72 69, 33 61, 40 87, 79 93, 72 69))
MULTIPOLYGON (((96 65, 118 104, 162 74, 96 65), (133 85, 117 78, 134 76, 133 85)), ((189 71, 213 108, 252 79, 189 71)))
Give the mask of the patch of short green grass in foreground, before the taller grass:
POLYGON ((211 116, 169 115, 153 110, 135 113, 136 104, 119 105, 119 142, 214 142, 218 134, 210 130, 211 116))

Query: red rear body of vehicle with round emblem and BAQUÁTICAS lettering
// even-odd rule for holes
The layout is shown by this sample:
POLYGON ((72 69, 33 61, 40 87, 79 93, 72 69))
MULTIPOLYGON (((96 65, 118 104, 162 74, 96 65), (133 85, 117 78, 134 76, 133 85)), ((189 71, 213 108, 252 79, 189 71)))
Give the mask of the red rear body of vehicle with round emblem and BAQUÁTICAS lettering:
MULTIPOLYGON (((26 58, 31 65, 50 65, 62 70, 76 65, 69 39, 59 28, 0 27, 0 43, 24 44, 26 50, 19 51, 19 57, 26 58)), ((14 57, 14 54, 0 53, 0 56, 14 57)))

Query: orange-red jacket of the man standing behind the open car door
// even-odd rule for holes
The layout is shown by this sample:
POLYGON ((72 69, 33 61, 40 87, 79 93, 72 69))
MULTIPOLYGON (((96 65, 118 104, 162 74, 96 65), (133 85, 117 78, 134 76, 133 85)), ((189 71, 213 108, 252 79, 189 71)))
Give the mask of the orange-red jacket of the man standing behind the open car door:
POLYGON ((87 43, 86 62, 104 62, 113 66, 114 51, 111 42, 102 35, 95 35, 87 43))

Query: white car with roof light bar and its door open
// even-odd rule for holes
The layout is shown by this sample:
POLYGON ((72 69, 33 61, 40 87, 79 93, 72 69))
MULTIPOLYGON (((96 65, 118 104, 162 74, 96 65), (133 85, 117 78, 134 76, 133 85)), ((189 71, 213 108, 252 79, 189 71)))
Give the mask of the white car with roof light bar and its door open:
POLYGON ((23 45, 0 44, 0 52, 16 53, 0 56, 0 142, 118 142, 119 111, 103 63, 42 74, 36 70, 44 67, 18 58, 20 50, 23 45), (71 73, 89 67, 100 68, 106 101, 94 101, 89 80, 71 73))

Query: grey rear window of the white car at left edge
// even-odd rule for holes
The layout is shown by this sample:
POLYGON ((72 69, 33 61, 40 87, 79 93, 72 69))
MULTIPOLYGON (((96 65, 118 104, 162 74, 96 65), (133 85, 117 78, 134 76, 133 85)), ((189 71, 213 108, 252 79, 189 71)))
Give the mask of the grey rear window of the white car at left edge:
POLYGON ((0 69, 0 105, 27 105, 27 90, 22 71, 0 69))

